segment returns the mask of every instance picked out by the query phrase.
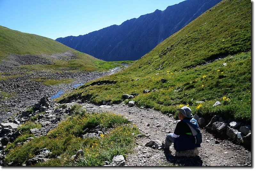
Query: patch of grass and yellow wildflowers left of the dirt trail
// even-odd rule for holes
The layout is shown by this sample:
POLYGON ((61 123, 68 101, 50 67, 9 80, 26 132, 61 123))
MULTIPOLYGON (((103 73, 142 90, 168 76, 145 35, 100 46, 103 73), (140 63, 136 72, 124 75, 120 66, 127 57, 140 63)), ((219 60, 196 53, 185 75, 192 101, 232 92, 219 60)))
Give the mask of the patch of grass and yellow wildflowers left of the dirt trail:
POLYGON ((115 155, 125 156, 132 152, 135 136, 140 134, 135 125, 114 113, 86 113, 80 108, 78 105, 73 107, 73 116, 62 121, 47 136, 35 137, 30 142, 14 148, 17 142, 24 142, 30 135, 20 136, 17 142, 8 146, 9 153, 4 161, 21 166, 33 158, 37 150, 47 148, 52 152, 51 159, 35 166, 102 166, 106 160, 111 162, 115 155), (92 129, 98 125, 108 131, 100 134, 98 138, 81 138, 84 129, 92 129), (71 156, 80 149, 84 151, 84 155, 76 161, 72 160, 71 156))

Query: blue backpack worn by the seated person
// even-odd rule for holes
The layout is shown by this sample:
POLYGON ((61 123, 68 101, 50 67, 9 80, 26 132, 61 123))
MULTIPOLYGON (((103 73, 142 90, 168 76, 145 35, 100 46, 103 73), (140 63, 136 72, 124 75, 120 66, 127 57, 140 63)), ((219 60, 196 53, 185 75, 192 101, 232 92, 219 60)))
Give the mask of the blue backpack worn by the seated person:
POLYGON ((201 147, 201 143, 202 143, 202 133, 199 129, 198 123, 197 121, 192 118, 191 120, 182 120, 184 122, 186 122, 189 126, 189 128, 191 129, 192 135, 195 137, 195 144, 197 147, 201 147))

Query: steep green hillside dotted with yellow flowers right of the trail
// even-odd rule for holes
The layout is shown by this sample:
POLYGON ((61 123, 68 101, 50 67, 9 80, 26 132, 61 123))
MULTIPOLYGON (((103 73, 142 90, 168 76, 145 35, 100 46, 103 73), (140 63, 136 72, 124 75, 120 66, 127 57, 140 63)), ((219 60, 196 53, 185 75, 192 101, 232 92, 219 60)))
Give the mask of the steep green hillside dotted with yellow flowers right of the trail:
POLYGON ((81 96, 120 103, 123 94, 139 93, 137 105, 163 113, 177 114, 177 107, 189 105, 199 116, 250 122, 251 1, 223 0, 131 67, 94 82, 100 81, 112 84, 89 82, 60 102, 81 96), (216 101, 221 105, 212 107, 216 101))

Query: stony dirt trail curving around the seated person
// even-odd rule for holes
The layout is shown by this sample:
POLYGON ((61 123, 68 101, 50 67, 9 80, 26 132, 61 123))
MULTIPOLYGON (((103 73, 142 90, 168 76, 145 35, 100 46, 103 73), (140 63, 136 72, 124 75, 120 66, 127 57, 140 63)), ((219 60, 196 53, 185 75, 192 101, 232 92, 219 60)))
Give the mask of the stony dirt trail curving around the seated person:
POLYGON ((228 140, 220 140, 201 128, 203 142, 198 148, 199 156, 193 159, 175 156, 173 145, 170 152, 146 147, 150 140, 164 140, 169 132, 173 132, 178 120, 168 117, 153 109, 140 109, 124 104, 102 105, 82 104, 87 111, 112 112, 124 115, 138 126, 147 137, 137 139, 135 152, 126 158, 125 166, 166 166, 178 164, 181 166, 251 166, 251 151, 228 140))

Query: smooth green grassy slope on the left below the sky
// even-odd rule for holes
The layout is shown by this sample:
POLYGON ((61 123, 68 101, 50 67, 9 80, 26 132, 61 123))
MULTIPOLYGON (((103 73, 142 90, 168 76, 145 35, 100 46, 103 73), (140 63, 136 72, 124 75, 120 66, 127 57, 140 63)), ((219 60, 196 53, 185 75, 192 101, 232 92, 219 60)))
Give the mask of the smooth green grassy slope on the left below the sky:
POLYGON ((77 55, 76 59, 72 60, 57 60, 49 58, 53 61, 52 65, 26 65, 22 66, 28 70, 50 70, 50 71, 95 71, 105 70, 120 66, 121 62, 105 62, 94 58, 86 53, 81 53, 66 45, 63 45, 55 40, 47 37, 22 33, 0 26, 0 61, 6 59, 10 54, 20 55, 51 55, 72 51, 77 55))

